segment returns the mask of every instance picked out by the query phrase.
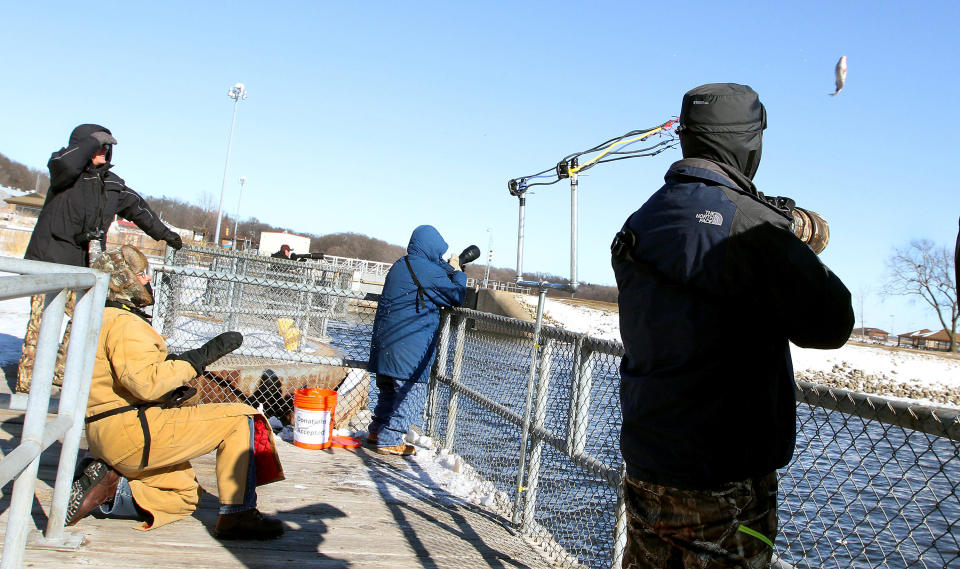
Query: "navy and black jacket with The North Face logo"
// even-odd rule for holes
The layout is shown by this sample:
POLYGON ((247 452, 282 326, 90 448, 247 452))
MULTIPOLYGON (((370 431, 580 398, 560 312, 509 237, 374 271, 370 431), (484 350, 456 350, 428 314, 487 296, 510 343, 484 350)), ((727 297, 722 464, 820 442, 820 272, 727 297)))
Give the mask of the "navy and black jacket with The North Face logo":
MULTIPOLYGON (((755 125, 761 115, 750 111, 755 125)), ((753 185, 759 132, 704 142, 684 117, 687 158, 615 241, 620 445, 628 475, 705 489, 787 464, 796 440, 788 342, 842 346, 853 309, 789 213, 753 185)))

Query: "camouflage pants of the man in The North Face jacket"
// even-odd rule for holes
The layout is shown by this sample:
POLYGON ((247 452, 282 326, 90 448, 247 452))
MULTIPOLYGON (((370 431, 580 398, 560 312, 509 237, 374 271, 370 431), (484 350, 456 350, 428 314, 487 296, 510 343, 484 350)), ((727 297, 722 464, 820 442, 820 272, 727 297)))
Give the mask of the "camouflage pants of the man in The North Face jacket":
POLYGON ((680 490, 627 477, 624 495, 623 569, 770 567, 770 545, 741 527, 776 538, 776 473, 714 490, 680 490))

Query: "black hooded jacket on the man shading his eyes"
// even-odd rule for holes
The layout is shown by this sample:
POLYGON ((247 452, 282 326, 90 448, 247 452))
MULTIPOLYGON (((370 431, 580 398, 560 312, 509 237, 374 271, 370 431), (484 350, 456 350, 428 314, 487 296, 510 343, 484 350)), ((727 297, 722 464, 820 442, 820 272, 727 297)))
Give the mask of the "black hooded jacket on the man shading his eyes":
POLYGON ((129 219, 154 239, 174 236, 147 202, 110 171, 110 153, 106 164, 93 165, 93 155, 100 148, 91 136, 95 132, 110 133, 100 125, 82 124, 73 129, 68 146, 50 156, 50 189, 25 259, 88 266, 90 237, 102 232, 105 248, 106 232, 116 215, 129 219))

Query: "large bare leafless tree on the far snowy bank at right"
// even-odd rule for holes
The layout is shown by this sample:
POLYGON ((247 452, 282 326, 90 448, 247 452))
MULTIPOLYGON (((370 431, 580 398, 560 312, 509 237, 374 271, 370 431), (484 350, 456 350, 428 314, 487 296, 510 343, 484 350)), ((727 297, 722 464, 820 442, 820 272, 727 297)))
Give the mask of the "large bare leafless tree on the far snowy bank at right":
POLYGON ((908 247, 895 249, 887 261, 886 284, 889 294, 919 296, 936 311, 943 329, 950 332, 950 351, 957 350, 960 319, 953 268, 946 247, 937 247, 927 239, 911 241, 908 247))

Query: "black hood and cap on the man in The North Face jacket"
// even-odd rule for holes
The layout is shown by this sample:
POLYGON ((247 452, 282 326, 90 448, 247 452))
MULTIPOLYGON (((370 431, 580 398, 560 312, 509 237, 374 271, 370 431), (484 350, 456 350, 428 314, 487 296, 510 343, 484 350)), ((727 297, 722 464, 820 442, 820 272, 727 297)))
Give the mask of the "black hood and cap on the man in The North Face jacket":
POLYGON ((691 89, 680 107, 684 158, 704 158, 753 179, 760 166, 767 112, 747 85, 711 83, 691 89))

